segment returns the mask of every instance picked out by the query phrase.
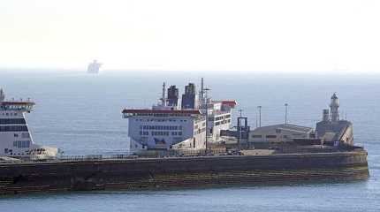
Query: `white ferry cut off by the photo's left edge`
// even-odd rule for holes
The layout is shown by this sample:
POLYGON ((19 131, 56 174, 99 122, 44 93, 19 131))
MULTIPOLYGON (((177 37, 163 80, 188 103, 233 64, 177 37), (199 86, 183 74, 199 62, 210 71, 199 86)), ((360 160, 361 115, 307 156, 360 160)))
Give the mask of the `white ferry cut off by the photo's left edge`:
POLYGON ((34 108, 34 102, 5 100, 0 89, 0 156, 23 159, 51 159, 58 153, 57 148, 34 144, 25 118, 34 108))

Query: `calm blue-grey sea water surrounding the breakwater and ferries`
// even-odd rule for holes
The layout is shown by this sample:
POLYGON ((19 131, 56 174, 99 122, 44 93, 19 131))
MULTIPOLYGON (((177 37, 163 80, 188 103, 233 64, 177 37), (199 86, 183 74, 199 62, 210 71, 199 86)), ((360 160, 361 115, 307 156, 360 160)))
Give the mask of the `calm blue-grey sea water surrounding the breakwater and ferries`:
POLYGON ((207 74, 191 72, 103 73, 4 72, 8 97, 35 100, 27 115, 34 141, 66 155, 128 151, 125 107, 150 107, 163 80, 183 92, 201 77, 214 99, 236 99, 250 125, 262 106, 262 125, 284 122, 315 126, 338 93, 341 117, 353 121, 355 143, 369 151, 369 180, 353 183, 235 186, 146 192, 33 194, 1 197, 0 211, 380 211, 380 76, 207 74))

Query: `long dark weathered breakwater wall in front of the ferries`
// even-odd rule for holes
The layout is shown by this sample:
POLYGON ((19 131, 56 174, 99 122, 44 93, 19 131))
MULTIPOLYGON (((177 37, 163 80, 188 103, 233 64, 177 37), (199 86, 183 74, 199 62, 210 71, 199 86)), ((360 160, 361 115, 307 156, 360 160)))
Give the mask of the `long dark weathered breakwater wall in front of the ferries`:
POLYGON ((0 194, 366 178, 365 150, 0 163, 0 194))

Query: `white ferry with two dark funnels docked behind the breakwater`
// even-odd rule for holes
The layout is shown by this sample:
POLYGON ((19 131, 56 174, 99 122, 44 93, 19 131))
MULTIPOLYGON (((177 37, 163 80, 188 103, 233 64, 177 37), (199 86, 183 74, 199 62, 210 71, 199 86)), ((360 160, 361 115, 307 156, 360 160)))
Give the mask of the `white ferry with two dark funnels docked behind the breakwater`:
POLYGON ((129 120, 128 135, 133 153, 143 150, 205 149, 220 138, 220 131, 231 128, 234 100, 214 101, 203 85, 196 91, 194 83, 185 87, 167 88, 163 83, 160 102, 151 109, 125 109, 129 120), (180 102, 180 103, 179 103, 180 102))

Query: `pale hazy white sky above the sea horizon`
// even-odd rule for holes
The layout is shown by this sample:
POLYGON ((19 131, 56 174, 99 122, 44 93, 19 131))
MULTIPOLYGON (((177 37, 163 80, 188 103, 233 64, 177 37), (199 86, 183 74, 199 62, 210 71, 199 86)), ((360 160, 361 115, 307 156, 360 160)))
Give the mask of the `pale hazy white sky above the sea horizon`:
POLYGON ((380 72, 380 1, 2 0, 0 67, 380 72))

